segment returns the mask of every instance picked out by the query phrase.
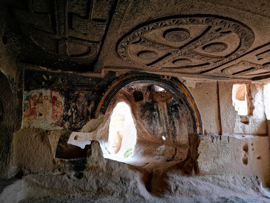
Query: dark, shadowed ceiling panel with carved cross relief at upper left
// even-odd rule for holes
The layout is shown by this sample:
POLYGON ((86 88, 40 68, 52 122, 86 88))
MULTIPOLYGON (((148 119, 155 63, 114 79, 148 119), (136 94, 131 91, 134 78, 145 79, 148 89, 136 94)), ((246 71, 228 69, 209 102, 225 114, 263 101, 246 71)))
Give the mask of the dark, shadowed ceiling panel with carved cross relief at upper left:
POLYGON ((9 2, 20 37, 26 41, 22 45, 21 61, 55 69, 91 71, 89 65, 99 55, 113 3, 105 0, 9 2))

